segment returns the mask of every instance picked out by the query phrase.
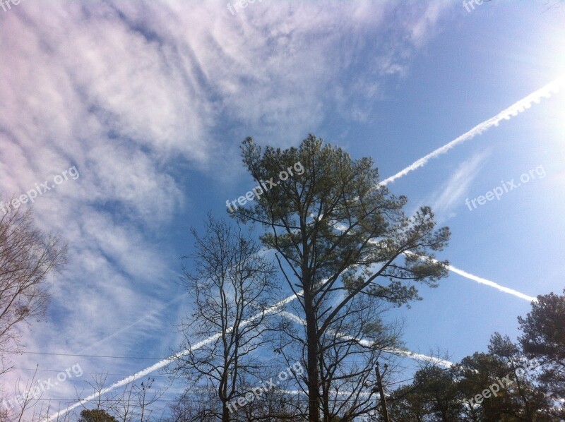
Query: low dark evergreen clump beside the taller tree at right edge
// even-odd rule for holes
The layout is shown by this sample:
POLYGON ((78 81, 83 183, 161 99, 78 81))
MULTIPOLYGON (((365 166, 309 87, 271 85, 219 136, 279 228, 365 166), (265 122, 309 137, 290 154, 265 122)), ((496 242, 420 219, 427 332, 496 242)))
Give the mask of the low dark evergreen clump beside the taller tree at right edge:
POLYGON ((557 422, 563 413, 537 381, 539 362, 495 333, 489 353, 449 369, 424 368, 390 400, 396 421, 557 422))

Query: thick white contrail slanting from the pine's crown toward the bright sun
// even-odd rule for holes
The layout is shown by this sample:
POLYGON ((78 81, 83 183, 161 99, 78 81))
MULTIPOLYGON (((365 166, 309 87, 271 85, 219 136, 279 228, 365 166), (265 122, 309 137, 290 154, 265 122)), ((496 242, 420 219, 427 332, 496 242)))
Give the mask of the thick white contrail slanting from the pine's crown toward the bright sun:
POLYGON ((437 150, 430 152, 428 155, 424 155, 424 157, 417 159, 415 162, 410 164, 410 166, 398 171, 398 173, 394 176, 381 181, 379 185, 385 186, 387 183, 391 183, 396 179, 400 179, 400 177, 405 176, 406 174, 410 173, 410 171, 413 171, 419 167, 423 167, 430 159, 444 154, 456 145, 465 142, 465 140, 474 138, 475 135, 480 135, 492 126, 498 126, 501 120, 510 120, 512 116, 517 116, 519 113, 525 111, 525 109, 532 107, 533 103, 539 104, 542 100, 542 97, 549 98, 552 96, 552 94, 558 92, 559 88, 561 88, 561 85, 563 85, 564 79, 565 76, 561 76, 556 80, 548 83, 547 85, 545 85, 545 87, 540 88, 539 90, 528 95, 528 97, 524 97, 522 100, 515 102, 507 109, 504 109, 499 114, 496 114, 496 116, 477 124, 477 126, 472 128, 470 131, 463 133, 463 135, 455 138, 450 143, 446 143, 446 145, 444 145, 443 147, 439 147, 437 150))

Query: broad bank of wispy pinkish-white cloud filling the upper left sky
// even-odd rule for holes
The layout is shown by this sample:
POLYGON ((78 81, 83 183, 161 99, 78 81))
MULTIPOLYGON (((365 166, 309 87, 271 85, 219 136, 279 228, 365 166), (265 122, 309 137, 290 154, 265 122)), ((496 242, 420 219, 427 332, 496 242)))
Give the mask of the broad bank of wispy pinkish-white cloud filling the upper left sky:
POLYGON ((414 4, 400 19, 394 1, 273 5, 232 16, 221 2, 27 2, 1 14, 1 189, 27 191, 71 165, 81 174, 33 205, 71 252, 28 349, 119 353, 168 327, 143 316, 179 294, 168 271, 183 253, 167 231, 198 200, 183 170, 233 179, 244 135, 294 143, 336 104, 374 100, 427 39, 416 28, 445 10, 414 4), (373 50, 359 40, 390 28, 374 50, 382 66, 359 70, 373 50), (116 332, 119 342, 100 342, 116 332))

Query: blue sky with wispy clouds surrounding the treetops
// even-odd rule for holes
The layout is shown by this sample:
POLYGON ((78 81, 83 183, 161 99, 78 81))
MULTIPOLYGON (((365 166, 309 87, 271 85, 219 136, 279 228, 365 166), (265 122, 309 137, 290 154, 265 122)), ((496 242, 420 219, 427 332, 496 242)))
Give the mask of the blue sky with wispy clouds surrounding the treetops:
POLYGON ((247 136, 373 157, 407 212, 430 205, 450 227, 438 258, 453 271, 390 314, 410 351, 486 351, 495 331, 516 339, 531 298, 563 291, 562 2, 6 1, 0 193, 53 186, 22 206, 69 263, 4 390, 79 365, 44 394, 72 404, 93 374, 111 386, 179 351, 189 229, 253 188, 247 136))

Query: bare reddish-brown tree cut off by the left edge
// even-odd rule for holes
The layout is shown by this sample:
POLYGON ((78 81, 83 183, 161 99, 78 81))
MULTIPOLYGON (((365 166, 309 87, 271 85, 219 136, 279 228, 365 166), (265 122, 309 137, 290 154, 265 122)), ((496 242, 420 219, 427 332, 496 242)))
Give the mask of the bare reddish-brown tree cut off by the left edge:
POLYGON ((0 217, 0 359, 19 350, 16 325, 44 315, 44 281, 66 261, 66 245, 33 224, 30 210, 11 208, 0 217))

